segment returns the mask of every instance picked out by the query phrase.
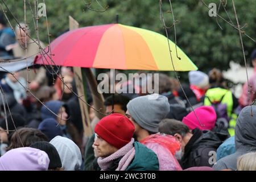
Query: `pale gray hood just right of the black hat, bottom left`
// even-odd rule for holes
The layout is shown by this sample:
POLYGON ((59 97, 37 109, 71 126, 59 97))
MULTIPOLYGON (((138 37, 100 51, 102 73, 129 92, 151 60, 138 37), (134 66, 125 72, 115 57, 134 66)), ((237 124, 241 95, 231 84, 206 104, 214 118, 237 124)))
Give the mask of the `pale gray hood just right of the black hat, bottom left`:
POLYGON ((58 151, 64 171, 78 171, 82 164, 82 155, 79 147, 65 137, 57 136, 51 143, 58 151))

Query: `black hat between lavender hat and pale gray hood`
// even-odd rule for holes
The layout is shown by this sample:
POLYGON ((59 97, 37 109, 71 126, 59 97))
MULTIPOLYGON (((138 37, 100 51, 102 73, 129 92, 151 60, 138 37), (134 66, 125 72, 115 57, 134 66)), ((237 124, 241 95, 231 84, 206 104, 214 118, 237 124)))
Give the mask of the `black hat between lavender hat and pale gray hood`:
POLYGON ((38 148, 44 152, 49 157, 50 163, 48 169, 55 169, 55 168, 60 168, 62 167, 61 160, 60 160, 60 155, 57 152, 56 148, 49 142, 35 142, 31 144, 32 148, 38 148))

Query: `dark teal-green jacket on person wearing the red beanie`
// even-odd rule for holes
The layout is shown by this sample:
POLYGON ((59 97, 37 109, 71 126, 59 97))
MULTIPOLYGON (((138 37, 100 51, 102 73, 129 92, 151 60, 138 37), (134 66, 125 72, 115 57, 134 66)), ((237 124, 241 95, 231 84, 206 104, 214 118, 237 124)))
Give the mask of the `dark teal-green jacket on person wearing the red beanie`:
POLYGON ((126 171, 158 171, 159 162, 155 152, 139 142, 134 142, 135 156, 126 171))

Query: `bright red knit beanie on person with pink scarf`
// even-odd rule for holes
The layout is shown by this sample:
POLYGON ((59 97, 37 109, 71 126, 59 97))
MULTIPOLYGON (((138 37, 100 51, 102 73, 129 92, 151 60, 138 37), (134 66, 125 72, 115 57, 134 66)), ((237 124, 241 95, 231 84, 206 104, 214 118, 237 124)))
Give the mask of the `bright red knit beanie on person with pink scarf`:
POLYGON ((122 148, 133 138, 135 127, 122 114, 110 114, 95 126, 95 133, 114 147, 122 148))

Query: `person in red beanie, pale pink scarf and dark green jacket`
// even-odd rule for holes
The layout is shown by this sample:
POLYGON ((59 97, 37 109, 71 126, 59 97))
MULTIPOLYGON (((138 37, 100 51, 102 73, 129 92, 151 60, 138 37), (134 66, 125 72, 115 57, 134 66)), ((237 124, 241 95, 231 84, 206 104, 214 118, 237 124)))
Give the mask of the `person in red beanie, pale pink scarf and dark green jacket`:
POLYGON ((133 123, 122 114, 110 114, 97 123, 93 146, 98 165, 107 171, 159 170, 156 154, 139 142, 134 142, 133 123))

